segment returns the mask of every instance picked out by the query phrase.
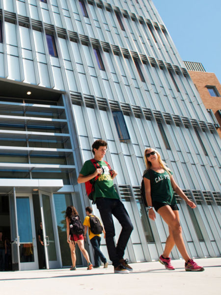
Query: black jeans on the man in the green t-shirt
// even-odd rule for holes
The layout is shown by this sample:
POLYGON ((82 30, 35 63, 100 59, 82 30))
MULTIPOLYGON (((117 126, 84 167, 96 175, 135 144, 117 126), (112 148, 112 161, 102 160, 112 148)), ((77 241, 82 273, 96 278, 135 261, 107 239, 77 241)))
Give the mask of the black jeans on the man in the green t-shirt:
POLYGON ((124 251, 127 242, 134 227, 131 223, 127 210, 120 200, 98 198, 96 199, 96 204, 106 232, 106 245, 108 248, 108 254, 112 261, 112 265, 116 267, 119 265, 119 260, 124 257, 124 251), (116 217, 122 226, 116 246, 114 243, 115 229, 112 215, 116 217))

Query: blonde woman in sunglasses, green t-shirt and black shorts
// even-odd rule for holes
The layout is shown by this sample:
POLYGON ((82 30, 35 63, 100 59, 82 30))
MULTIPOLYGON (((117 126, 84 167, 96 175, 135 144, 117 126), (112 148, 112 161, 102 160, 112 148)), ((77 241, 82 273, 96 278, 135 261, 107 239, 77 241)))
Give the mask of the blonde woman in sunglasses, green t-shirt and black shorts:
POLYGON ((177 246, 180 254, 185 260, 186 271, 203 271, 204 268, 198 266, 187 253, 184 240, 182 237, 182 228, 180 226, 179 208, 173 191, 175 191, 191 208, 196 205, 188 199, 181 188, 176 184, 172 172, 162 161, 159 152, 153 148, 146 148, 144 151, 144 161, 146 171, 143 179, 145 185, 146 201, 148 204, 148 216, 155 220, 156 214, 154 209, 161 215, 169 228, 169 236, 166 239, 164 253, 160 256, 159 262, 166 269, 175 269, 170 262, 169 254, 177 246))

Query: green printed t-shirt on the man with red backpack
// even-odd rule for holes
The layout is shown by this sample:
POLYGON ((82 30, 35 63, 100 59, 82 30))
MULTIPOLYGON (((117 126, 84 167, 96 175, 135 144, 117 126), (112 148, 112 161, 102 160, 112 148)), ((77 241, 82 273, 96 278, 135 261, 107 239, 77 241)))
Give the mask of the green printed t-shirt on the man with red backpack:
MULTIPOLYGON (((113 186, 113 179, 111 177, 110 169, 108 168, 107 164, 104 161, 97 161, 97 163, 102 168, 103 173, 95 181, 94 200, 96 200, 97 198, 119 199, 119 196, 113 186)), ((88 160, 84 162, 80 174, 82 174, 83 176, 87 176, 93 174, 95 170, 96 168, 94 167, 93 163, 88 160)), ((91 183, 93 183, 94 178, 90 180, 91 183)))

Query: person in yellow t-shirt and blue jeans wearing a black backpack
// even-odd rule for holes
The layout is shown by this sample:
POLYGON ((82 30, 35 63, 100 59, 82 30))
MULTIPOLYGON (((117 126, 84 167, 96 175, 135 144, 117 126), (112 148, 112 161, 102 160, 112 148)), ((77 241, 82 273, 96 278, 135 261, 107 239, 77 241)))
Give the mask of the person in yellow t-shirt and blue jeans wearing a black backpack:
MULTIPOLYGON (((89 233, 89 239, 92 247, 94 248, 94 267, 99 267, 100 266, 100 259, 104 264, 104 268, 108 267, 108 261, 107 258, 104 256, 104 254, 101 252, 100 245, 101 245, 101 235, 100 234, 94 234, 92 233, 90 229, 90 216, 95 216, 92 214, 92 208, 91 207, 86 207, 86 217, 84 219, 83 225, 84 225, 84 237, 86 236, 87 233, 87 228, 88 228, 88 233, 89 233)), ((98 218, 98 217, 97 217, 98 218)), ((105 238, 105 230, 103 228, 103 234, 105 238)))

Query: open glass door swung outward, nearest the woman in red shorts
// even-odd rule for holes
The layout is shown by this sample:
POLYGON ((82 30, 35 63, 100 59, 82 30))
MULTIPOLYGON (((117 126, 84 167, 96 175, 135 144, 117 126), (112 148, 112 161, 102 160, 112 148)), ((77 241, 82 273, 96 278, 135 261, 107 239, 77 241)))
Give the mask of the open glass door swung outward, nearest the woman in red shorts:
POLYGON ((61 258, 56 231, 55 210, 52 194, 39 191, 43 238, 45 247, 46 268, 60 268, 61 258))

